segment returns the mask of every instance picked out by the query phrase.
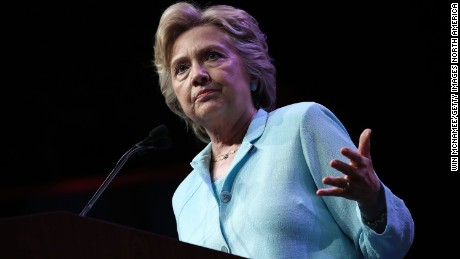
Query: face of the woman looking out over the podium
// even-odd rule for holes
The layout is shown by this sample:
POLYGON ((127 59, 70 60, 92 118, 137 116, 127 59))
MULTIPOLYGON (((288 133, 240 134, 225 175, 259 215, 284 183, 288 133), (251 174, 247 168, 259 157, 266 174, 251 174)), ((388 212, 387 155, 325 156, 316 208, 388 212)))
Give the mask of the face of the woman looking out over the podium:
POLYGON ((254 110, 250 77, 223 31, 194 27, 177 38, 171 54, 172 86, 190 119, 225 123, 254 110))

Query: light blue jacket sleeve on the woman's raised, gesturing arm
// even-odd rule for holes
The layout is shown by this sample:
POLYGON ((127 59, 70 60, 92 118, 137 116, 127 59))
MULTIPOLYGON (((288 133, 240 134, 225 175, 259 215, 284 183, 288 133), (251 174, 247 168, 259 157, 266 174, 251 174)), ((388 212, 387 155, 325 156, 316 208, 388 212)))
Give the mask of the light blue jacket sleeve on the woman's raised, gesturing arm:
MULTIPOLYGON (((347 162, 342 147, 357 149, 339 119, 321 104, 310 105, 301 123, 302 149, 318 188, 329 188, 325 176, 343 176, 332 167, 332 159, 347 162)), ((414 239, 414 222, 403 200, 382 183, 385 190, 387 225, 378 234, 362 222, 356 201, 342 197, 323 197, 339 227, 350 237, 365 258, 403 258, 414 239)))

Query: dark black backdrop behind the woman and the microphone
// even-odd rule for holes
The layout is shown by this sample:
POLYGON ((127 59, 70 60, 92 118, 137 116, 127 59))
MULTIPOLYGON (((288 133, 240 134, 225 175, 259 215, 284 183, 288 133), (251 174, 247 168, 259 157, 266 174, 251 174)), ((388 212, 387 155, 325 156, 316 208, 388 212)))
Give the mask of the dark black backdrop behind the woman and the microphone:
MULTIPOLYGON (((373 130, 376 171, 415 221, 408 258, 449 254, 443 235, 458 229, 450 4, 198 2, 235 5, 259 21, 278 68, 278 106, 322 103, 356 143, 373 130)), ((155 29, 171 3, 4 7, 0 217, 79 213, 124 152, 165 124, 172 148, 131 157, 88 216, 177 238, 171 197, 203 145, 164 104, 152 67, 155 29)))

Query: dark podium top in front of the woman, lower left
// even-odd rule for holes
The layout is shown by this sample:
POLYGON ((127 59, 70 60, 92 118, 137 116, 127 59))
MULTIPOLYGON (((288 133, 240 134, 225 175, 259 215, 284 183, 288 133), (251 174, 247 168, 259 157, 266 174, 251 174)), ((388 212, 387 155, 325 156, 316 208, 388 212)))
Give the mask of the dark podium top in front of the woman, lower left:
POLYGON ((0 258, 241 258, 69 212, 0 219, 0 258))

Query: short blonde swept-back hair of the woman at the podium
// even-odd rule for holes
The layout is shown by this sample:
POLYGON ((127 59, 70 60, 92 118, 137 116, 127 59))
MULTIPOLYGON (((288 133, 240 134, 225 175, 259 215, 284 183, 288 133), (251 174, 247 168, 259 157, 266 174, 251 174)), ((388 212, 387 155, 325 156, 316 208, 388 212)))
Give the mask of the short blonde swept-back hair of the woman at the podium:
POLYGON ((198 139, 207 143, 210 140, 206 130, 186 116, 174 93, 170 67, 171 48, 175 40, 185 31, 202 25, 215 26, 228 34, 246 71, 251 78, 257 79, 257 90, 251 92, 257 109, 275 109, 276 68, 268 54, 266 35, 261 32, 254 17, 242 9, 228 5, 200 8, 189 2, 178 2, 163 12, 154 44, 154 65, 161 93, 169 109, 185 120, 187 127, 192 127, 198 139))

